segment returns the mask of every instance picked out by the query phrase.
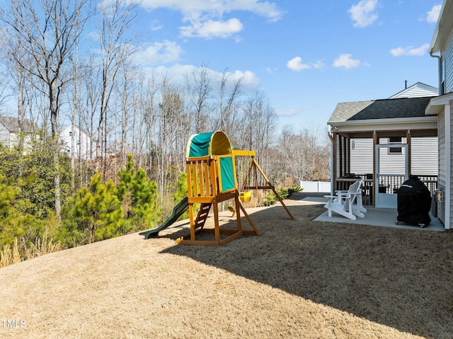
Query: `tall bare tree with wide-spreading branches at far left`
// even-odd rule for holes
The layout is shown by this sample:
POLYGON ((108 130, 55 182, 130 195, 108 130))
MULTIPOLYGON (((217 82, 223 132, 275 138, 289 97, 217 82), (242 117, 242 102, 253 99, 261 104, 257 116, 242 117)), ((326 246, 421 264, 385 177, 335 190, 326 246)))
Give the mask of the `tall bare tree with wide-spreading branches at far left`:
MULTIPOLYGON (((59 137, 62 93, 64 86, 72 79, 72 74, 65 66, 88 20, 88 15, 83 15, 87 4, 88 0, 10 0, 8 6, 0 9, 0 20, 8 32, 8 39, 11 39, 11 46, 18 43, 18 48, 8 51, 9 55, 23 76, 30 79, 30 84, 47 98, 52 137, 56 142, 59 137)), ((57 152, 54 159, 55 214, 59 216, 61 203, 57 152)))

